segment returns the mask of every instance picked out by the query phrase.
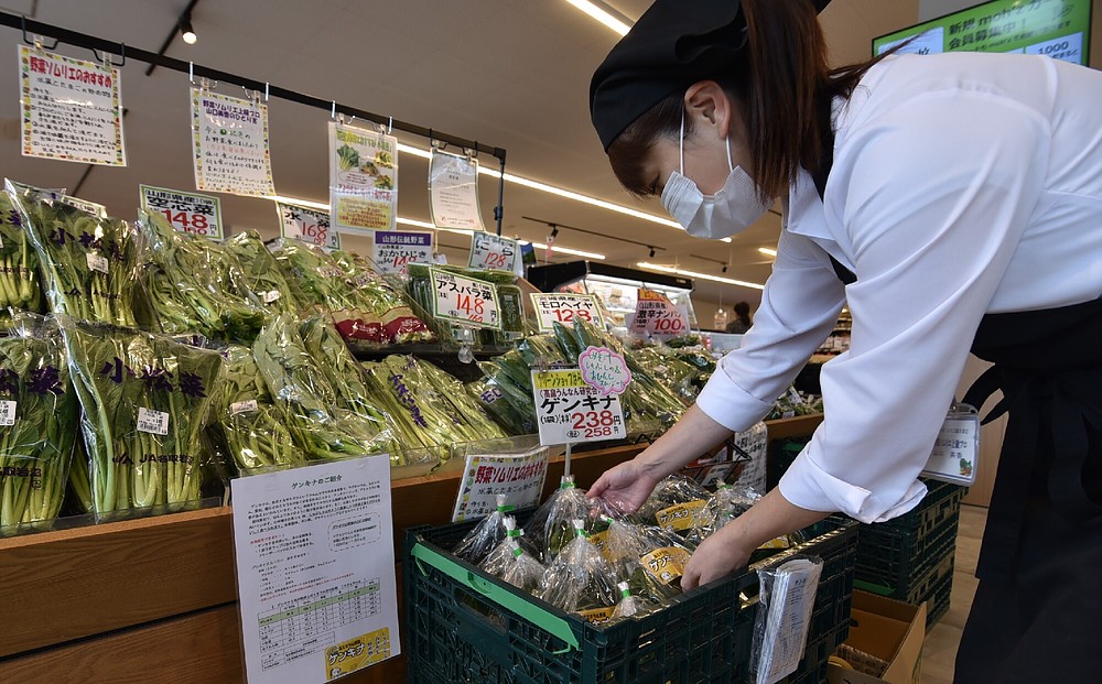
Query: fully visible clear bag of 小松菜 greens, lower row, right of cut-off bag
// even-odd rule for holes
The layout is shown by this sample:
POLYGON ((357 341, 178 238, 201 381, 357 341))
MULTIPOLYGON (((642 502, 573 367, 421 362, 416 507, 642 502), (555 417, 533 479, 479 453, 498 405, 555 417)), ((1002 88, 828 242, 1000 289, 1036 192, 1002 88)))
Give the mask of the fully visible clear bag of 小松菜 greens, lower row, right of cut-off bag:
POLYGON ((60 316, 97 515, 201 497, 203 431, 223 359, 168 337, 60 316))

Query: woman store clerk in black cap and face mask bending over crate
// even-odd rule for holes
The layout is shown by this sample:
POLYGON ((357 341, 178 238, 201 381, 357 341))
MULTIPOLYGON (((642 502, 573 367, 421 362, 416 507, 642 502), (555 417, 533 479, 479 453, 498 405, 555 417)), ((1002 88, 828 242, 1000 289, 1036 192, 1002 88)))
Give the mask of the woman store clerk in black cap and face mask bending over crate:
MULTIPOLYGON (((828 336, 825 420, 683 584, 841 511, 919 503, 971 351, 1008 409, 958 682, 1102 681, 1102 74, 1046 57, 889 55, 830 69, 812 0, 658 0, 593 76, 622 184, 722 238, 774 197, 753 328, 682 420, 590 490, 629 509, 749 427, 828 336)), ((982 386, 982 387, 981 387, 982 386)))

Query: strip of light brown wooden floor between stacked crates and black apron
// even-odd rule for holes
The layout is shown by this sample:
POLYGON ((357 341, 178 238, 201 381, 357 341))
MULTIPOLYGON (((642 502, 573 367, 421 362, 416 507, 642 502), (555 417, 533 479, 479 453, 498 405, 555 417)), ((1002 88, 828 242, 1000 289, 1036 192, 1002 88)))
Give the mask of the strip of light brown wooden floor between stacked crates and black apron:
POLYGON ((961 631, 972 609, 975 595, 975 561, 980 555, 980 539, 987 522, 987 509, 961 507, 961 525, 957 536, 957 565, 949 612, 927 633, 922 650, 922 684, 951 684, 953 663, 961 631))

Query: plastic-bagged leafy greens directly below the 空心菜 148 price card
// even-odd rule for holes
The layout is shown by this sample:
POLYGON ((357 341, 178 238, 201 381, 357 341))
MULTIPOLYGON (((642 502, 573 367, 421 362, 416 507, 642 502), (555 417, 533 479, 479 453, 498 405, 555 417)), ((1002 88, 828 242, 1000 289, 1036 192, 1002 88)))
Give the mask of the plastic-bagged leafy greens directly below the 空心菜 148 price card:
POLYGON ((228 253, 218 259, 213 240, 174 230, 155 211, 140 213, 138 226, 150 247, 145 286, 162 332, 244 344, 256 338, 266 313, 237 292, 241 276, 228 253))

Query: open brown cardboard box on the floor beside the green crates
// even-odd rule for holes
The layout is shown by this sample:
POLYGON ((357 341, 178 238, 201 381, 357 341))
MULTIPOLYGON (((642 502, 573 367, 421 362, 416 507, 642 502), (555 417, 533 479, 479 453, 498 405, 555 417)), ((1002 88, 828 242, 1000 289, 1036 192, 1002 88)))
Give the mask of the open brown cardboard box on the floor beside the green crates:
POLYGON ((828 669, 830 684, 919 684, 926 604, 912 606, 855 590, 850 615, 850 638, 845 643, 886 662, 887 670, 876 677, 832 663, 828 669))

